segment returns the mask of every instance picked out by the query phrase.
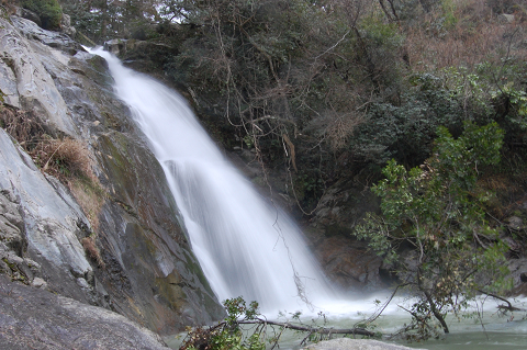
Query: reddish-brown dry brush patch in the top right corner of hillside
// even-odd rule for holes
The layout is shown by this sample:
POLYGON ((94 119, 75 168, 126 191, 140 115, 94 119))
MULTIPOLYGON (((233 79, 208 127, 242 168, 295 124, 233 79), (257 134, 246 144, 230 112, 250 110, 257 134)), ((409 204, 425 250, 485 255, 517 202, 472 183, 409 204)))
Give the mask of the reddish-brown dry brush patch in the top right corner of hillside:
POLYGON ((498 63, 512 49, 515 56, 527 57, 518 45, 527 30, 522 13, 515 13, 513 23, 502 23, 485 1, 456 0, 449 15, 446 22, 445 12, 436 11, 426 16, 425 25, 408 29, 406 49, 414 69, 498 63))

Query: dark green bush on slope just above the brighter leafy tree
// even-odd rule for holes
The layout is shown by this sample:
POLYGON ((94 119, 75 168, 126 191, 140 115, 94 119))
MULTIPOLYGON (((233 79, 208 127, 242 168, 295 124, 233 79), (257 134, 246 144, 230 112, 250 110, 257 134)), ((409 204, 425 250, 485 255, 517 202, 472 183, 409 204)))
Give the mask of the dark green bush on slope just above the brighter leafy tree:
POLYGON ((460 99, 441 87, 442 79, 424 74, 411 81, 400 103, 374 102, 366 123, 359 125, 348 147, 359 161, 384 165, 395 158, 416 166, 429 157, 439 125, 460 131, 463 113, 460 99))

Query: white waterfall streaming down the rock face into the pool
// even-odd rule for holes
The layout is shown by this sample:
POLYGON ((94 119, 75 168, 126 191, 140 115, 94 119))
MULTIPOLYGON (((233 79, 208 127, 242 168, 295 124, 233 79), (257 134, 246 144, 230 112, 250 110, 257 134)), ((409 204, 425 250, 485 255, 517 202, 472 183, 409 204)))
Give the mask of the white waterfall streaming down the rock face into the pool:
POLYGON ((165 169, 192 249, 220 301, 243 296, 262 311, 301 306, 300 278, 315 305, 332 296, 299 228, 264 201, 223 157, 175 91, 102 49, 126 102, 165 169))

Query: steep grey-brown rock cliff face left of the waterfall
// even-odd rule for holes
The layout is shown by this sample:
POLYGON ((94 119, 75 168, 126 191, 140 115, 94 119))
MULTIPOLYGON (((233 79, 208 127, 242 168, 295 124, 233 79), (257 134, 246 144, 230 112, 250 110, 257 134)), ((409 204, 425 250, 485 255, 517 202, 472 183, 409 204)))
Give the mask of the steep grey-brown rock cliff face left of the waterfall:
POLYGON ((1 109, 32 111, 47 137, 82 143, 96 174, 60 182, 0 129, 2 273, 160 334, 223 316, 102 58, 65 34, 0 18, 1 109))

